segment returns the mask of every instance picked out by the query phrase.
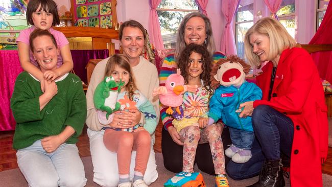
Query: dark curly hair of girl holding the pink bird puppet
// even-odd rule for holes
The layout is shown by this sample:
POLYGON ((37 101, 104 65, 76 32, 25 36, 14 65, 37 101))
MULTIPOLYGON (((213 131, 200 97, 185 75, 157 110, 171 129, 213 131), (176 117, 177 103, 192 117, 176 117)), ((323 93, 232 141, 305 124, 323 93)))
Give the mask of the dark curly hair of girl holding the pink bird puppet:
POLYGON ((188 83, 188 68, 190 66, 189 63, 189 57, 190 55, 195 52, 200 55, 202 55, 202 60, 203 60, 203 65, 202 65, 202 70, 203 73, 200 75, 200 78, 203 80, 203 89, 205 89, 206 93, 209 95, 212 95, 213 90, 209 87, 210 85, 210 72, 211 72, 211 66, 212 66, 212 57, 210 53, 207 51, 205 46, 203 45, 198 45, 191 43, 187 45, 184 50, 180 53, 180 58, 177 61, 178 68, 181 69, 181 75, 184 78, 185 83, 188 83))

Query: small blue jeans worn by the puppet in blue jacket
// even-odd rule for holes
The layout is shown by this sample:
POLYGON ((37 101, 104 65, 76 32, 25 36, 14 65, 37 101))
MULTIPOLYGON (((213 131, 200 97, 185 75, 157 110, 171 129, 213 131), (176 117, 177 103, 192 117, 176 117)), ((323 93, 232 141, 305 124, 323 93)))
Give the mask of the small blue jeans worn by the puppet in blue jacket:
POLYGON ((244 131, 240 129, 229 128, 230 139, 232 144, 241 149, 251 149, 252 143, 254 142, 254 132, 244 131))

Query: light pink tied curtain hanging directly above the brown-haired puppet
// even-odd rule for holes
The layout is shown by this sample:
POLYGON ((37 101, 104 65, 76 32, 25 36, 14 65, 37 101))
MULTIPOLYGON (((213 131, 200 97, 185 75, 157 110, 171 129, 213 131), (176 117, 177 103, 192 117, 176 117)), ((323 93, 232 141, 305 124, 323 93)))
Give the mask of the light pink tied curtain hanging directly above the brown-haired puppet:
POLYGON ((221 40, 220 49, 226 56, 231 54, 236 55, 236 45, 231 22, 236 10, 238 10, 240 1, 241 0, 223 0, 221 3, 221 11, 226 18, 226 26, 221 40))

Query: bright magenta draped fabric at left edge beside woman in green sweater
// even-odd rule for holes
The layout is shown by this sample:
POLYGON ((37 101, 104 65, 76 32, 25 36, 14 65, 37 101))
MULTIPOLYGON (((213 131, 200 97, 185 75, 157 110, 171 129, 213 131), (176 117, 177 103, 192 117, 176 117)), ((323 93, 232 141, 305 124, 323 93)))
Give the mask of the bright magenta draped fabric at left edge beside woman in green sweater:
POLYGON ((17 51, 0 50, 0 131, 15 129, 16 122, 10 109, 10 98, 16 77, 22 71, 17 51))

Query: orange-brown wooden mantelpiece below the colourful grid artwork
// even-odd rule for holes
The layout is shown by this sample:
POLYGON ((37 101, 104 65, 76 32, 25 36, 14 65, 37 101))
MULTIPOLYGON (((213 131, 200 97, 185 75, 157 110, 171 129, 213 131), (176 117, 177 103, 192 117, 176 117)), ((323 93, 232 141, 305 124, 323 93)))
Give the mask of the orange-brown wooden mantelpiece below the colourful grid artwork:
POLYGON ((112 39, 118 39, 118 32, 114 29, 104 29, 96 27, 54 27, 62 32, 66 37, 91 37, 92 49, 108 49, 109 55, 115 53, 112 39))

